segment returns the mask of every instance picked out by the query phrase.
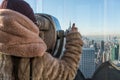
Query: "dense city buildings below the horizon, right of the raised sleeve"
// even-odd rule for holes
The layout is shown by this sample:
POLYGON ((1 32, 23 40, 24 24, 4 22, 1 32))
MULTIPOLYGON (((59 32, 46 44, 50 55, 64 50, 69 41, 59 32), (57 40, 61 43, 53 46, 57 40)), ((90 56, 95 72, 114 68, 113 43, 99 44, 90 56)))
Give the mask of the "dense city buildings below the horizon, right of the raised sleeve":
POLYGON ((120 66, 119 36, 83 36, 82 39, 84 45, 79 68, 85 78, 91 78, 95 70, 106 61, 120 66))

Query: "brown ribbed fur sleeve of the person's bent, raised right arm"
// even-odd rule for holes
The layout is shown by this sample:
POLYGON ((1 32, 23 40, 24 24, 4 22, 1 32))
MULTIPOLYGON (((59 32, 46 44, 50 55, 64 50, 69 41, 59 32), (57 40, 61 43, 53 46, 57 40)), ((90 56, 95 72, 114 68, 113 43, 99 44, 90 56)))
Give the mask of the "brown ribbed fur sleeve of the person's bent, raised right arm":
POLYGON ((49 80, 73 80, 79 66, 82 45, 78 32, 69 33, 66 37, 66 50, 61 59, 45 54, 44 77, 49 77, 49 80))

